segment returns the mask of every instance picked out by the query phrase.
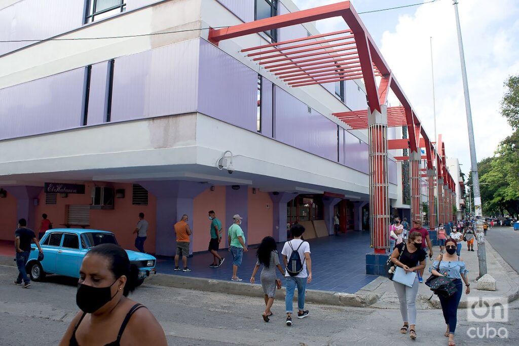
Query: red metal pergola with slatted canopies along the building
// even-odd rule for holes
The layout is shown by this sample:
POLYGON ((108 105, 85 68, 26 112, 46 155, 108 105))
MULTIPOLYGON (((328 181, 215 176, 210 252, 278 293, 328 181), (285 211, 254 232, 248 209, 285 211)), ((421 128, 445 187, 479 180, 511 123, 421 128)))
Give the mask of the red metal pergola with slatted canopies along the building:
MULTIPOLYGON (((368 109, 337 113, 334 116, 348 124, 351 129, 368 129, 372 245, 375 253, 385 253, 389 247, 387 150, 388 144, 391 143, 387 141, 387 127, 407 126, 408 140, 398 144, 393 142, 389 147, 409 148, 411 154, 417 153, 420 147, 425 147, 425 159, 429 170, 434 169, 435 159, 436 163, 443 163, 444 157, 438 155, 438 150, 434 150, 434 143, 421 126, 411 103, 350 2, 297 11, 224 29, 211 29, 208 39, 214 45, 218 45, 227 39, 332 17, 343 18, 348 29, 245 47, 241 49, 241 53, 290 87, 310 87, 363 79, 368 109), (386 107, 389 90, 397 96, 401 106, 386 107)), ((421 156, 414 157, 418 161, 421 160, 421 156)), ((440 170, 440 166, 438 168, 438 175, 447 178, 446 170, 440 170)), ((413 174, 420 177, 418 166, 413 174)), ((432 200, 434 201, 434 198, 432 200)))

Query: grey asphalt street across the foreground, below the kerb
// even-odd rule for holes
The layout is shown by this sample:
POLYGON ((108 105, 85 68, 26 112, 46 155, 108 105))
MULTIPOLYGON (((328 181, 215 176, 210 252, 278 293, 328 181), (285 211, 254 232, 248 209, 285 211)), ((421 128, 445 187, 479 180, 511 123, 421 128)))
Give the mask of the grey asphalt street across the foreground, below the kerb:
MULTIPOLYGON (((0 345, 56 345, 77 312, 76 280, 49 276, 23 289, 12 283, 14 267, 0 266, 0 345)), ((310 315, 284 325, 284 302, 276 301, 269 323, 262 320, 263 299, 142 285, 131 296, 157 317, 170 345, 446 345, 440 310, 419 310, 418 339, 399 333, 396 309, 348 308, 308 304, 310 315)), ((458 345, 519 344, 519 303, 512 303, 509 321, 490 323, 507 328, 508 339, 471 339, 467 331, 485 323, 469 323, 466 310, 458 313, 458 345)), ((475 334, 474 334, 475 335, 475 334)))

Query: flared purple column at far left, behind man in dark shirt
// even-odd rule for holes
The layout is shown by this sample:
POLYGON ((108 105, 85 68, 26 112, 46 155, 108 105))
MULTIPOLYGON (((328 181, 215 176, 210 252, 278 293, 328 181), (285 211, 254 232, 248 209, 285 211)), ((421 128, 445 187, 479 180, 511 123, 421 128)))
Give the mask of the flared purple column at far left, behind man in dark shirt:
MULTIPOLYGON (((34 215, 36 212, 36 202, 39 194, 42 192, 43 187, 41 186, 6 186, 4 189, 11 193, 16 198, 16 219, 24 218, 27 220, 27 227, 32 229, 36 235, 38 230, 36 227, 37 216, 34 215)), ((16 227, 16 225, 12 225, 16 227)))

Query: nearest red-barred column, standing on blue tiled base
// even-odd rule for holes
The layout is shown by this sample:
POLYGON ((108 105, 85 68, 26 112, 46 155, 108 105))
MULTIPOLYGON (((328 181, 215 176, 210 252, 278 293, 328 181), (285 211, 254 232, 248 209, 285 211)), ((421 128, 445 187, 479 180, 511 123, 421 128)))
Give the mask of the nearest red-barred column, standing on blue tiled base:
POLYGON ((370 141, 370 234, 375 254, 385 254, 389 248, 389 182, 387 147, 387 107, 368 109, 370 141))

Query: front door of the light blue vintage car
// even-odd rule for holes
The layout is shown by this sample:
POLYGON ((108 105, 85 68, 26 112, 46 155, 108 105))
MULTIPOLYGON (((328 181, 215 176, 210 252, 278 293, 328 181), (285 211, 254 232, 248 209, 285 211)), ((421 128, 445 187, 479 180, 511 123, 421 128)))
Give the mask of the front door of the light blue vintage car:
POLYGON ((72 276, 73 278, 79 278, 79 266, 81 260, 83 260, 83 256, 83 253, 79 250, 78 235, 76 233, 64 233, 56 262, 59 273, 72 276))

